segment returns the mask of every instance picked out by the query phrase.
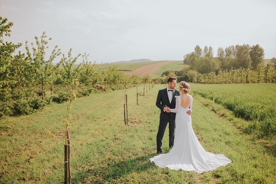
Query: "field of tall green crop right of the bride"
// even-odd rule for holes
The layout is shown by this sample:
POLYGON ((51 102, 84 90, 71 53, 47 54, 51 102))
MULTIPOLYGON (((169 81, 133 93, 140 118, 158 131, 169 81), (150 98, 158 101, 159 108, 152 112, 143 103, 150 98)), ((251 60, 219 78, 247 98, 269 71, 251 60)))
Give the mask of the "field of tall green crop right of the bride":
POLYGON ((193 86, 194 93, 224 105, 237 117, 259 122, 257 128, 264 135, 276 133, 275 84, 222 84, 216 87, 194 84, 193 86), (262 92, 261 95, 259 91, 262 92))

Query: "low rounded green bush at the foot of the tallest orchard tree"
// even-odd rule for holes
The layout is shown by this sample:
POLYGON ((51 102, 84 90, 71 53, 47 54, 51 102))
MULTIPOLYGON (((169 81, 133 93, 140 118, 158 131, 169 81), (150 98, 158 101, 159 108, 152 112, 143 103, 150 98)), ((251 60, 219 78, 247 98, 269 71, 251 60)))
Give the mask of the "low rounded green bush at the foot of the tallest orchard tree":
POLYGON ((43 109, 45 105, 46 101, 39 97, 21 98, 14 103, 14 111, 18 114, 27 115, 43 109))

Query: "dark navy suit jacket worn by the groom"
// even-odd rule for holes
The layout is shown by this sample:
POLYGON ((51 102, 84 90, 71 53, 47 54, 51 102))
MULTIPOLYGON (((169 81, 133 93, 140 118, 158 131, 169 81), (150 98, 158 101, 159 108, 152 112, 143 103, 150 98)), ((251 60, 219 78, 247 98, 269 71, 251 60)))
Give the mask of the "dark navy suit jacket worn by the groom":
POLYGON ((169 108, 174 109, 175 108, 175 100, 176 98, 174 98, 175 96, 179 96, 179 91, 173 89, 173 98, 171 100, 169 100, 168 97, 168 92, 167 92, 167 87, 165 89, 159 90, 158 91, 158 95, 156 98, 156 106, 161 109, 161 113, 160 113, 160 119, 164 119, 164 120, 175 120, 175 115, 176 113, 167 113, 166 111, 164 112, 164 107, 165 105, 167 105, 169 108))

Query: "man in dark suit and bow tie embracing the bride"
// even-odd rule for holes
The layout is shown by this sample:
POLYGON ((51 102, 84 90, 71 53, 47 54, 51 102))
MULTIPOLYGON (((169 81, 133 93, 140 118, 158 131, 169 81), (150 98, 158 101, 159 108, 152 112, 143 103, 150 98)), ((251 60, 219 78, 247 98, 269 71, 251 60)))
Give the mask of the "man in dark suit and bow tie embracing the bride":
MULTIPOLYGON (((176 113, 171 113, 169 108, 175 108, 175 97, 179 96, 179 91, 175 90, 176 86, 176 78, 169 77, 167 79, 168 86, 158 91, 158 95, 156 98, 156 106, 161 109, 160 113, 160 121, 158 133, 156 136, 156 144, 157 144, 157 153, 162 153, 162 139, 164 136, 165 129, 169 122, 169 146, 172 148, 174 146, 174 128, 175 128, 175 115, 176 113)), ((189 109, 187 114, 191 115, 192 110, 189 109)))

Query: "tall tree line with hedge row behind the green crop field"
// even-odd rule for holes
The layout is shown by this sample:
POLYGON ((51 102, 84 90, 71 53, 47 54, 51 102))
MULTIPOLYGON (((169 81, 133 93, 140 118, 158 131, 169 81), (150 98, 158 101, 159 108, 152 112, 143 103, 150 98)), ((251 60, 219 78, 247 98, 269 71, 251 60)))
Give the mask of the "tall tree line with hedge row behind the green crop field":
POLYGON ((263 58, 264 49, 259 44, 220 47, 217 57, 213 57, 212 47, 205 46, 202 51, 197 45, 194 52, 184 56, 183 63, 189 66, 182 69, 182 76, 199 83, 276 82, 276 59, 264 66, 263 58))

